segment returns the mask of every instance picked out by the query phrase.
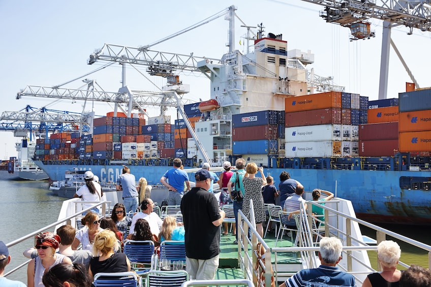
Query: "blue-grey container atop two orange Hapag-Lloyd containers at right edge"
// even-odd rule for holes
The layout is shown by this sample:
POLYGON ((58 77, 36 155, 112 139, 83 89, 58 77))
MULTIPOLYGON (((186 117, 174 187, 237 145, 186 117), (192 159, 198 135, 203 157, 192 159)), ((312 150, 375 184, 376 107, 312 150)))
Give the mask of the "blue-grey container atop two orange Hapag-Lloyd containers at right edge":
POLYGON ((399 151, 431 152, 431 89, 399 93, 399 151))

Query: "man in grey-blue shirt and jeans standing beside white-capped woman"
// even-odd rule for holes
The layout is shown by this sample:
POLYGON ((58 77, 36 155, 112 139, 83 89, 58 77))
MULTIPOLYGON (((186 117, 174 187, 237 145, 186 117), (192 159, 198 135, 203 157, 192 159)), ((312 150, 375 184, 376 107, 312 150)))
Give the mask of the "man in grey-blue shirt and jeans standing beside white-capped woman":
POLYGON ((122 174, 118 176, 116 190, 122 190, 122 200, 126 212, 135 212, 139 205, 138 189, 135 176, 130 173, 130 169, 126 166, 122 169, 122 174))

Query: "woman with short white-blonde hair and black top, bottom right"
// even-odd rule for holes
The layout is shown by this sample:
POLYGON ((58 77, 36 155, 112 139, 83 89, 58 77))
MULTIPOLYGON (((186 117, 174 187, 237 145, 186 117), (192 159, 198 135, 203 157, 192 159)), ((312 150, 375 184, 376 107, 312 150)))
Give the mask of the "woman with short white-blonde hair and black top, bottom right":
POLYGON ((382 272, 368 274, 362 287, 397 287, 401 271, 396 269, 401 257, 401 248, 392 240, 385 240, 377 246, 377 258, 382 266, 382 272))

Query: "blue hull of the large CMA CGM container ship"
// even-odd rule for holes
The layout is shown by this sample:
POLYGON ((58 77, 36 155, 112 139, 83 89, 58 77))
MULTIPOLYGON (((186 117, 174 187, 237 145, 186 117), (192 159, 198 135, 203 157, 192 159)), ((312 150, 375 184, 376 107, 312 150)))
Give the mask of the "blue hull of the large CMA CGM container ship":
MULTIPOLYGON (((121 174, 122 165, 44 165, 35 161, 51 180, 64 180, 65 172, 72 168, 91 170, 101 182, 114 182, 121 174)), ((161 176, 170 166, 129 165, 136 180, 145 177, 149 184, 160 183, 161 176)), ((401 177, 431 177, 429 171, 371 171, 332 169, 264 169, 279 184, 279 175, 287 171, 300 181, 305 190, 330 190, 336 197, 350 200, 357 216, 373 222, 431 224, 431 190, 403 189, 401 177)))

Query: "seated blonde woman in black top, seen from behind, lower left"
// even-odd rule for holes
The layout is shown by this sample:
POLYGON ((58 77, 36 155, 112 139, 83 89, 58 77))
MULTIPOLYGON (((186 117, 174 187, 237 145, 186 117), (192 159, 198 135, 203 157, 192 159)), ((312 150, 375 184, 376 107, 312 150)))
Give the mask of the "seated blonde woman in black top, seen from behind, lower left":
POLYGON ((115 233, 105 229, 96 235, 93 245, 93 258, 90 260, 88 274, 93 281, 94 275, 101 272, 127 272, 130 271, 130 261, 125 253, 118 250, 118 241, 115 233))

